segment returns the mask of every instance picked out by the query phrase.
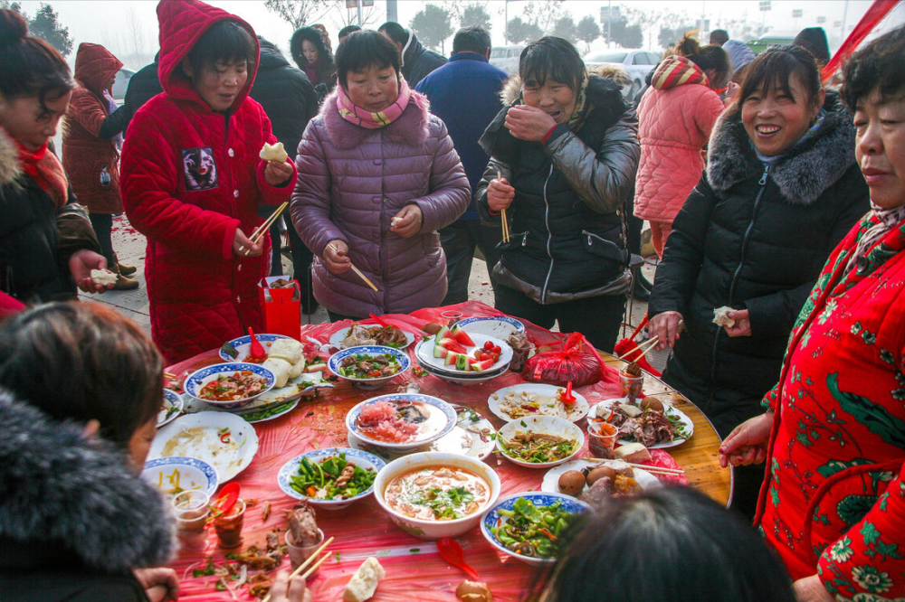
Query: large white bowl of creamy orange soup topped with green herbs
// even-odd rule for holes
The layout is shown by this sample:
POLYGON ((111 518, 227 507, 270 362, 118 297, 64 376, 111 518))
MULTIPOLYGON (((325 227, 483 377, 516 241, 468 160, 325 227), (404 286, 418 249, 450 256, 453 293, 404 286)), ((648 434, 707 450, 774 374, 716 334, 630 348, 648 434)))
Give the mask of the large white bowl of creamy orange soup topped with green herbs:
POLYGON ((374 482, 377 503, 415 537, 458 537, 500 497, 500 477, 469 456, 422 452, 386 465, 374 482))

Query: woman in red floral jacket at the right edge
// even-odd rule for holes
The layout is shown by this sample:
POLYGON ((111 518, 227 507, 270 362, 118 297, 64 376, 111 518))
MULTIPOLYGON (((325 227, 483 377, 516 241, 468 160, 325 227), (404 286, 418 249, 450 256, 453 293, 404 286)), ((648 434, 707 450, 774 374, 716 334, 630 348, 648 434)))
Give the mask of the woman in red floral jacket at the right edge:
POLYGON ((798 317, 767 412, 720 447, 763 462, 758 524, 799 600, 905 597, 905 28, 844 70, 872 211, 798 317))

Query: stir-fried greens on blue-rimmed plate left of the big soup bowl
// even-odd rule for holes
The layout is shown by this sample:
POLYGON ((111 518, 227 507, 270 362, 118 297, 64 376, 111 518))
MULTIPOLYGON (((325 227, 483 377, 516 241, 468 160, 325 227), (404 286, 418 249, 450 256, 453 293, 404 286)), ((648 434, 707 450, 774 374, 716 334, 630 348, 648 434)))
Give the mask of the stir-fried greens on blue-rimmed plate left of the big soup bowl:
POLYGON ((290 477, 290 486, 302 495, 317 500, 348 500, 367 490, 377 474, 374 468, 355 466, 343 452, 320 462, 301 458, 298 475, 290 477))

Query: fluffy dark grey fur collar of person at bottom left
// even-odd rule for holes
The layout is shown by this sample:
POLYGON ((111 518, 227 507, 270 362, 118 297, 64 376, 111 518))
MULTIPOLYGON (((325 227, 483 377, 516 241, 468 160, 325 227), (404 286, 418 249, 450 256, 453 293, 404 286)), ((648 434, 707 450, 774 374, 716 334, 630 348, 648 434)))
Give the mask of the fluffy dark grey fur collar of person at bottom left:
MULTIPOLYGON (((160 566, 174 528, 152 485, 81 428, 0 391, 0 540, 65 546, 90 569, 160 566)), ((8 551, 8 550, 7 550, 8 551)))

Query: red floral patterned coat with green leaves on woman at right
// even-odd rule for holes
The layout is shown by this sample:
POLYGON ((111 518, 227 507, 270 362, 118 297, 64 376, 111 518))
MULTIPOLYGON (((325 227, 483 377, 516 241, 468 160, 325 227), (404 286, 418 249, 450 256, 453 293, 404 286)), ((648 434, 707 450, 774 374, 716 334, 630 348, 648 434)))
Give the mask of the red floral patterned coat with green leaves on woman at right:
POLYGON ((792 578, 839 599, 905 597, 905 221, 842 277, 843 239, 792 331, 755 523, 792 578))

